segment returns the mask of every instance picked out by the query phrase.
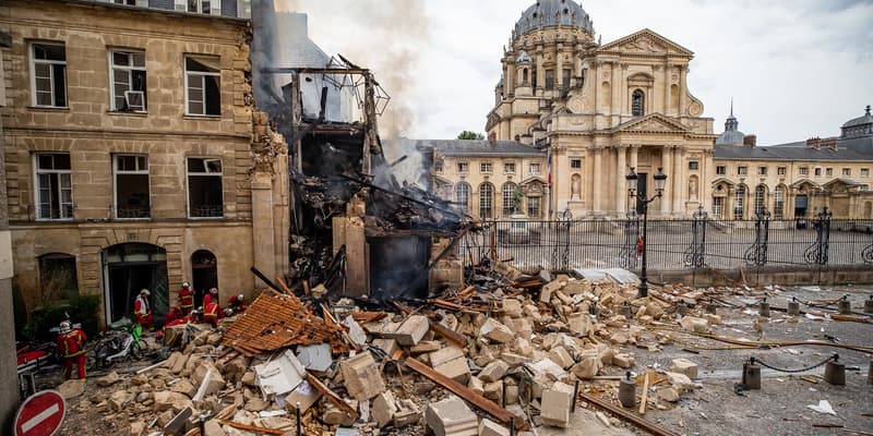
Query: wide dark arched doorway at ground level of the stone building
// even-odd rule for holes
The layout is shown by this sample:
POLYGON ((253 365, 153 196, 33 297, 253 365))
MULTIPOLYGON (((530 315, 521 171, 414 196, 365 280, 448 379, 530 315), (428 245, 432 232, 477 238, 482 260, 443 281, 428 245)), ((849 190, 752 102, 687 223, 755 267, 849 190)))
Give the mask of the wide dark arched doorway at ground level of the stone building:
POLYGON ((133 320, 133 303, 142 289, 151 292, 155 323, 163 324, 169 306, 167 252, 157 245, 124 243, 105 249, 101 259, 106 324, 124 316, 133 320))

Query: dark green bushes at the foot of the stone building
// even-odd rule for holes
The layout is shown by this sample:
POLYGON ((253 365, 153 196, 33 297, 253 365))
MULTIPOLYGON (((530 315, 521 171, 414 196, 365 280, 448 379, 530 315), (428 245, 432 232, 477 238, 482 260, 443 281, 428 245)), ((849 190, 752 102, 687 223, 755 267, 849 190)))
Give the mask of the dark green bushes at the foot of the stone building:
POLYGON ((67 301, 57 301, 47 304, 41 308, 37 308, 31 313, 27 324, 24 325, 21 334, 23 339, 27 340, 53 340, 57 334, 49 331, 52 327, 67 319, 75 323, 81 323, 87 331, 97 323, 97 315, 100 310, 100 295, 76 295, 67 301))

